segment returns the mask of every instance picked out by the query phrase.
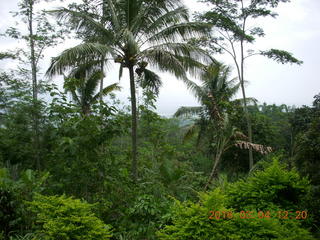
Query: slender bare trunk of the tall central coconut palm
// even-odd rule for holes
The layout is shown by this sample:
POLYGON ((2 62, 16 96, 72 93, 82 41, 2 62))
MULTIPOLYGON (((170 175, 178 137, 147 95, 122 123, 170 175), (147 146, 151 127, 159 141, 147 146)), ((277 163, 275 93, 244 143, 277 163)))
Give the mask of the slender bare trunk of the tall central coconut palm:
POLYGON ((137 105, 136 105, 136 88, 134 82, 134 70, 133 66, 129 66, 130 75, 130 91, 131 91, 131 113, 132 113, 132 125, 131 125, 131 137, 132 137, 132 166, 131 173, 133 180, 136 181, 138 177, 137 172, 137 105))

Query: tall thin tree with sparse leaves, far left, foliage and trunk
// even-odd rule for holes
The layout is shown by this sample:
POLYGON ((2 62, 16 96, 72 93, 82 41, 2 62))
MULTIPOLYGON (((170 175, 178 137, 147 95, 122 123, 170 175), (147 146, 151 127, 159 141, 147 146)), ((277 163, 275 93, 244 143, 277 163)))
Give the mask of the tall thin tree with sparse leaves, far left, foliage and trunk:
POLYGON ((43 11, 36 11, 36 5, 40 0, 21 0, 18 3, 19 11, 14 16, 19 16, 24 24, 25 30, 20 32, 15 27, 10 27, 5 36, 22 39, 26 42, 28 48, 18 49, 17 55, 23 64, 29 67, 21 67, 21 73, 30 75, 32 79, 32 99, 33 99, 33 128, 34 128, 34 150, 36 166, 40 169, 40 136, 39 136, 39 63, 43 57, 43 51, 51 46, 56 45, 60 39, 63 39, 65 32, 61 32, 57 25, 52 25, 43 11))

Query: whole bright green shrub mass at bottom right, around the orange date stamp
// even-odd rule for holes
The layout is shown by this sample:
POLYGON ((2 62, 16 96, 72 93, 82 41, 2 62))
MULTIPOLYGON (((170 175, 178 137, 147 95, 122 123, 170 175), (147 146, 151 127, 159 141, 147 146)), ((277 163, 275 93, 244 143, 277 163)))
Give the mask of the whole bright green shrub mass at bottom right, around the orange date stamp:
POLYGON ((266 170, 256 172, 247 180, 229 184, 226 190, 216 188, 212 192, 201 193, 198 203, 176 200, 171 211, 171 224, 158 231, 157 235, 161 240, 311 240, 314 238, 301 225, 304 220, 281 219, 272 211, 280 210, 280 207, 289 211, 308 189, 306 179, 301 179, 295 171, 284 170, 274 161, 266 170), (257 209, 265 213, 269 210, 270 217, 266 214, 260 218, 257 209), (209 219, 210 211, 233 214, 232 217, 221 214, 220 219, 209 219), (252 214, 246 211, 252 211, 252 214))

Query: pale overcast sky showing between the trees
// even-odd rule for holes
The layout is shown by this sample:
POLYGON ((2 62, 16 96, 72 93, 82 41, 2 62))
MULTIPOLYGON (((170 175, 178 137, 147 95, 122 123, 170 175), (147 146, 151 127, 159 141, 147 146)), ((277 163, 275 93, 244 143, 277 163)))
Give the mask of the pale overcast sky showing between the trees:
MULTIPOLYGON (((0 32, 14 25, 15 20, 8 13, 15 10, 17 0, 0 0, 0 32)), ((196 0, 185 0, 186 5, 197 11, 206 6, 196 0)), ((248 59, 245 67, 247 95, 259 102, 269 104, 310 105, 313 96, 320 92, 320 1, 292 0, 291 3, 281 4, 277 8, 279 16, 276 19, 267 18, 254 24, 261 26, 266 33, 265 38, 256 41, 254 47, 261 50, 270 48, 283 49, 294 53, 295 57, 304 61, 301 66, 277 64, 261 56, 248 59)), ((43 68, 48 66, 50 57, 56 56, 63 49, 75 45, 68 41, 62 46, 47 52, 43 68)), ((0 39, 0 51, 12 48, 14 41, 0 39)), ((215 56, 216 59, 232 66, 227 56, 215 56)), ((3 64, 1 65, 3 67, 3 64)), ((5 67, 9 67, 7 63, 5 67)), ((111 68, 107 73, 106 84, 118 81, 118 68, 111 68)), ((163 87, 157 102, 158 112, 162 115, 172 115, 180 106, 197 105, 194 97, 184 84, 169 74, 160 74, 163 87)), ((234 77, 235 77, 234 73, 234 77)), ((57 83, 61 85, 60 81, 57 83)), ((121 80, 123 90, 117 94, 121 101, 128 103, 128 75, 121 80)), ((239 94, 239 97, 241 95, 239 94)))

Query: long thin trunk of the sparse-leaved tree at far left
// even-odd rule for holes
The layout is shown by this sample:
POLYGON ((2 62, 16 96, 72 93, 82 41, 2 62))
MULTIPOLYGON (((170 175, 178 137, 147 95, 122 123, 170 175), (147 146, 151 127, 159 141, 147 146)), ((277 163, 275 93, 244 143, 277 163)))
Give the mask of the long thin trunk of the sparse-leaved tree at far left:
POLYGON ((35 57, 35 46, 33 36, 33 1, 29 0, 29 38, 30 38, 30 51, 31 51, 31 74, 32 74, 32 97, 33 97, 33 124, 34 124, 34 147, 35 159, 37 169, 40 170, 40 155, 39 155, 39 117, 38 117, 38 82, 37 82, 37 66, 35 57))

